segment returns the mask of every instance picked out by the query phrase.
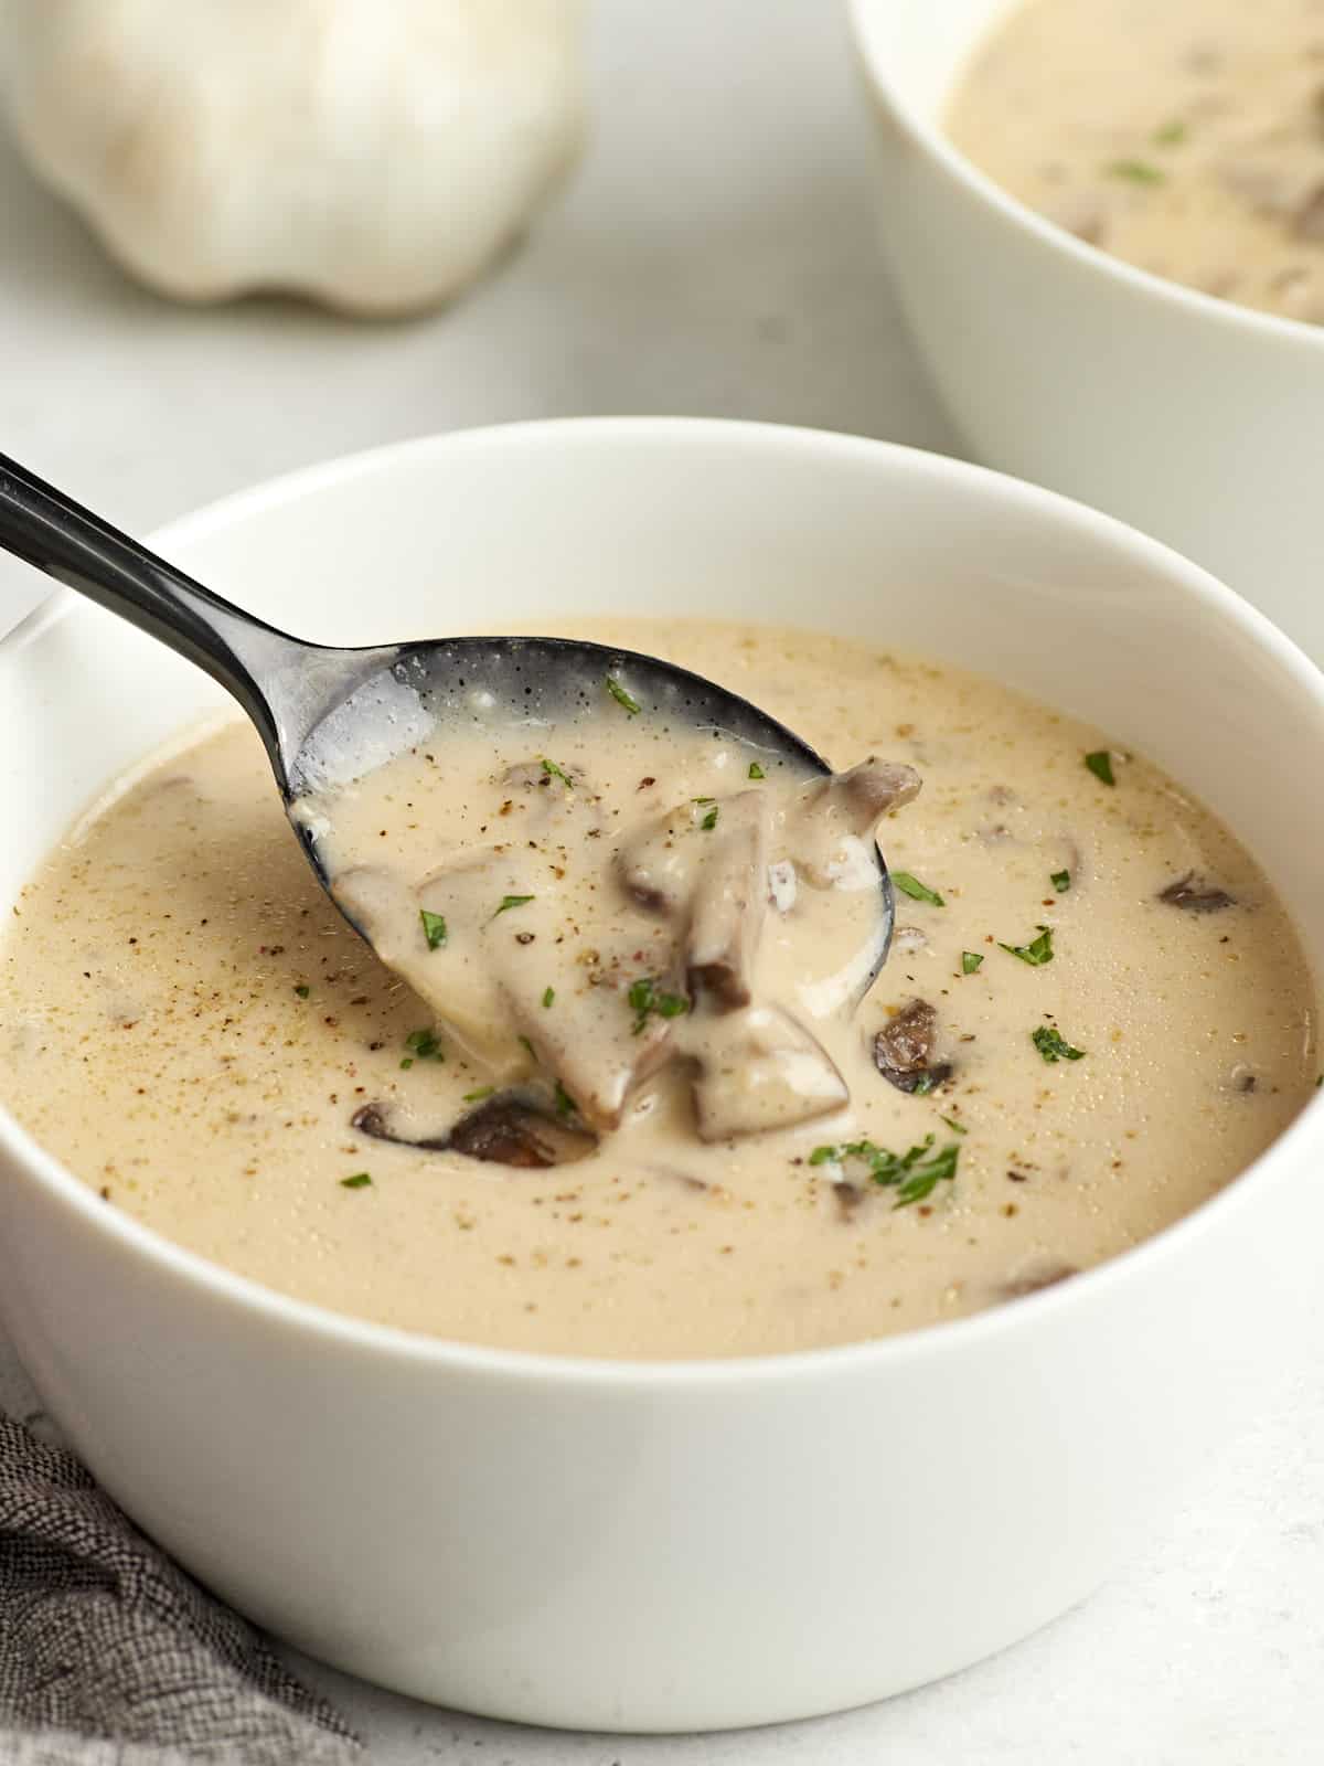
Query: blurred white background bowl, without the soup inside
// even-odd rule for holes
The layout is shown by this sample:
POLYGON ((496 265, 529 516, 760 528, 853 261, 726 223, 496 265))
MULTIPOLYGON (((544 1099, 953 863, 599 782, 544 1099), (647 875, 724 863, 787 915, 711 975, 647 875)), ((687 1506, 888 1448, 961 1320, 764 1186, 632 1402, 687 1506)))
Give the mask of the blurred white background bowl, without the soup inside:
POLYGON ((891 274, 989 464, 1179 546, 1324 659, 1324 327, 1230 306, 1052 226, 941 132, 1008 0, 849 0, 891 274))

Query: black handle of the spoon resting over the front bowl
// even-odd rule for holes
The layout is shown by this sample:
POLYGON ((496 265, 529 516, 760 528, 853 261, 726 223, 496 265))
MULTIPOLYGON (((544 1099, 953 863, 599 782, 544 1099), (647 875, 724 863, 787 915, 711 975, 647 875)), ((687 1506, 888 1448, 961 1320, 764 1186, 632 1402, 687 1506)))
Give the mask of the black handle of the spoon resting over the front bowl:
POLYGON ((275 758, 272 683, 314 646, 233 608, 4 454, 0 547, 196 662, 238 699, 275 758))

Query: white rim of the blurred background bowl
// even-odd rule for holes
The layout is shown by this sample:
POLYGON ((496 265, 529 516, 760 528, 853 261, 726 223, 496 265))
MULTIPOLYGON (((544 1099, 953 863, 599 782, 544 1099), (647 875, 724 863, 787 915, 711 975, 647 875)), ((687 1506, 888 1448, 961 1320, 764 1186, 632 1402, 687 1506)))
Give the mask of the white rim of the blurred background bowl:
MULTIPOLYGON (((1029 235, 1042 247, 1061 253, 1086 275, 1112 281, 1139 300, 1167 306, 1202 323, 1223 327, 1227 332, 1241 332, 1250 339, 1269 343, 1275 348, 1324 350, 1324 325, 1287 318, 1278 313, 1264 313, 1260 307, 1243 307, 1234 300, 1223 300, 1220 295, 1207 295, 1199 288, 1190 288, 1186 283, 1176 283, 1165 275, 1156 275, 1153 270, 1142 270, 1125 258, 1114 258, 1112 253, 1086 244, 1082 238, 1068 233, 1066 228, 1049 221, 1036 208, 1022 203, 1020 198, 1012 196, 1010 191, 1004 191, 1001 184, 962 154, 943 129, 911 102, 904 87, 893 79, 877 35, 877 19, 888 4, 890 0, 846 0, 851 35, 874 92, 888 104, 893 120, 906 131, 911 143, 920 147, 953 184, 962 185, 971 196, 994 210, 999 221, 1029 235)), ((1004 9, 1003 21, 1024 4, 1026 0, 1012 0, 1004 9)), ((971 30, 966 44, 967 49, 987 39, 997 28, 997 23, 999 19, 994 18, 978 30, 971 30)), ((944 97, 952 95, 966 67, 967 60, 962 60, 955 79, 946 87, 944 97)))

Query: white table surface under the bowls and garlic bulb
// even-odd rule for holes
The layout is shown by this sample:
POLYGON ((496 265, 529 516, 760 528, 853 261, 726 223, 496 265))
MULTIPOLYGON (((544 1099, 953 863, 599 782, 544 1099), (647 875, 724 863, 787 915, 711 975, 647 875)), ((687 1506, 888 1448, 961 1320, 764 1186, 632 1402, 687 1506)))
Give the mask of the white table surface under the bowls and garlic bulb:
MULTIPOLYGON (((166 306, 0 145, 0 449, 139 530, 307 461, 521 417, 756 417, 957 450, 877 265, 839 7, 598 0, 593 58, 595 136, 567 198, 417 323, 166 306)), ((0 629, 34 581, 0 567, 0 629)), ((1319 1761, 1324 1307, 1283 1356, 1287 1399, 1209 1466, 1155 1556, 1017 1649, 883 1706, 729 1736, 567 1736, 298 1667, 378 1766, 1319 1761)), ((35 1404, 4 1346, 0 1404, 35 1404)))

